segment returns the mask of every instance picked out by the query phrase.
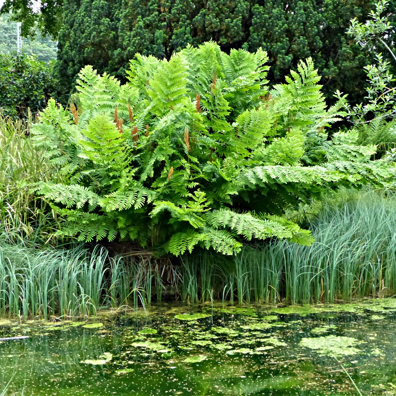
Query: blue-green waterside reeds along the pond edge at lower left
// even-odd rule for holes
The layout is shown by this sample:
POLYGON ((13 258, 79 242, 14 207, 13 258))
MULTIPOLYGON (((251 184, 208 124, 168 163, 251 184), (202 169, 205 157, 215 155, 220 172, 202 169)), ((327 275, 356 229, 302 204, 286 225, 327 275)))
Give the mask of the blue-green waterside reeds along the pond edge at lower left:
MULTIPOLYGON (((0 317, 60 318, 161 299, 177 274, 150 255, 110 257, 104 247, 26 247, 0 235, 0 317)), ((27 244, 25 244, 27 245, 27 244)))

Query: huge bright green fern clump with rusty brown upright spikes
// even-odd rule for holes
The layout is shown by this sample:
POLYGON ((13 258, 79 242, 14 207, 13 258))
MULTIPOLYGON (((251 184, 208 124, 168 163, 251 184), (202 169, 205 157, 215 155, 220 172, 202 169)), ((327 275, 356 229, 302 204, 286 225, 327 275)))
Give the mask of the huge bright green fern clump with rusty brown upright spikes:
POLYGON ((270 91, 266 62, 261 49, 227 55, 209 42, 169 61, 137 55, 125 85, 82 69, 70 111, 50 101, 32 133, 66 180, 38 190, 64 219, 58 233, 174 255, 197 245, 230 255, 269 237, 309 245, 287 208, 388 183, 375 146, 327 139, 344 103, 326 110, 311 59, 270 91))

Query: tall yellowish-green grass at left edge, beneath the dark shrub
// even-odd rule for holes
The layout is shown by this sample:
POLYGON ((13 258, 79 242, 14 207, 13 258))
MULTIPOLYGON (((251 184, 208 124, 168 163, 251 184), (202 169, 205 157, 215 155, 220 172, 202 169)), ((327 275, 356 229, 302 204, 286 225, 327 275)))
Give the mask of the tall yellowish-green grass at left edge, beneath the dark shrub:
POLYGON ((12 241, 47 236, 54 219, 36 196, 39 181, 55 179, 56 171, 29 138, 31 121, 14 121, 0 114, 0 229, 12 241))

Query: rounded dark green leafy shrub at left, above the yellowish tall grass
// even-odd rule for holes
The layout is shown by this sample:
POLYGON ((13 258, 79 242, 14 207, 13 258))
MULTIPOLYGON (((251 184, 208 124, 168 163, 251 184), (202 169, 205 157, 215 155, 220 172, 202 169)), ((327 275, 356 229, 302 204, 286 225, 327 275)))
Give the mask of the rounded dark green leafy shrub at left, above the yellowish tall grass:
POLYGON ((0 54, 0 107, 6 115, 24 118, 46 107, 53 95, 52 66, 25 54, 0 54))

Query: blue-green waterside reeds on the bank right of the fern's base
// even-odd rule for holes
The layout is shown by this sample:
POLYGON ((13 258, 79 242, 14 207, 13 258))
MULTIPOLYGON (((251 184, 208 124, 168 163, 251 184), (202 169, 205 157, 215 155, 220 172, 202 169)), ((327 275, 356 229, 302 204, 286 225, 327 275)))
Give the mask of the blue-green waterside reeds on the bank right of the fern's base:
POLYGON ((182 260, 186 301, 310 303, 396 294, 396 199, 386 191, 343 192, 310 220, 316 242, 246 246, 226 259, 202 252, 182 260), (227 261, 227 264, 218 263, 227 261), (207 270, 206 268, 211 268, 207 270), (204 269, 204 270, 203 270, 204 269), (202 285, 202 286, 201 286, 202 285))

